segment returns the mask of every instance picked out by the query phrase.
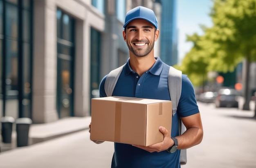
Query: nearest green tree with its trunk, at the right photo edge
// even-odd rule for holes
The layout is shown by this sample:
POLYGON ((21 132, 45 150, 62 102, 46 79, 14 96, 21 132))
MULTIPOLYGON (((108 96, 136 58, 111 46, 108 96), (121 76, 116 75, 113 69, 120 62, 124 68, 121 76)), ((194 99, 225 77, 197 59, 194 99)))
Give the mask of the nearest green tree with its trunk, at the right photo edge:
POLYGON ((208 68, 214 69, 221 60, 226 66, 218 70, 230 71, 246 59, 248 75, 243 109, 249 110, 249 68, 252 61, 256 61, 256 0, 214 0, 210 16, 213 27, 207 36, 219 46, 208 68))

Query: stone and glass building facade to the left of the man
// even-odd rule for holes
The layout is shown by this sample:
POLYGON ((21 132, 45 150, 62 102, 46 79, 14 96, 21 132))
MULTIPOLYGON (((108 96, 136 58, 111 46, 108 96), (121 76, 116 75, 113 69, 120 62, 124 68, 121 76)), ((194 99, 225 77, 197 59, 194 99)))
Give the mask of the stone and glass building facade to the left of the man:
POLYGON ((0 0, 0 118, 90 116, 91 99, 129 51, 126 12, 154 0, 0 0))

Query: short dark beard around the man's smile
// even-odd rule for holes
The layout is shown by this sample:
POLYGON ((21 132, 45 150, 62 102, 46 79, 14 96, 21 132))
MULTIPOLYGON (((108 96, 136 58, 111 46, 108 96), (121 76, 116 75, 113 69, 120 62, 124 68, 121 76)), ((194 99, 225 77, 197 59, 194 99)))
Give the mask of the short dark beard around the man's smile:
POLYGON ((146 49, 135 49, 134 47, 132 47, 132 45, 130 45, 130 43, 128 43, 126 41, 126 44, 129 48, 129 50, 132 52, 132 54, 134 54, 135 56, 138 56, 138 57, 143 57, 143 56, 148 55, 152 51, 152 49, 154 48, 155 41, 153 41, 153 43, 151 43, 151 44, 148 43, 148 41, 132 41, 131 43, 146 43, 146 44, 148 44, 146 49))

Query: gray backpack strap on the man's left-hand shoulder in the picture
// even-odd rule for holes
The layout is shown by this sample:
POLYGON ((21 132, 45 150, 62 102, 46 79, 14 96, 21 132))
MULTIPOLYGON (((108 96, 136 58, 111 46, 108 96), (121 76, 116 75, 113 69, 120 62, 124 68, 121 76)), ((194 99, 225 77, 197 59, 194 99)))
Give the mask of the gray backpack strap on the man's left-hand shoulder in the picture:
POLYGON ((112 93, 117 84, 117 80, 124 68, 124 65, 122 65, 121 67, 118 67, 117 69, 110 71, 110 73, 108 74, 106 81, 105 81, 105 85, 104 85, 104 89, 105 89, 107 96, 112 96, 112 93))

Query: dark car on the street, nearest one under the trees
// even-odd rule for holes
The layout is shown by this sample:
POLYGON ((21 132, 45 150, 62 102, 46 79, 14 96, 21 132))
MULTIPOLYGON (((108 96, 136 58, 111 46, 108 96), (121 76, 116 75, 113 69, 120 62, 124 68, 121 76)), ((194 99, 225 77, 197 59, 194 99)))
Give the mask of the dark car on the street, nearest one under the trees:
POLYGON ((215 99, 216 108, 238 108, 238 96, 240 96, 240 92, 238 92, 236 89, 220 89, 215 99))

